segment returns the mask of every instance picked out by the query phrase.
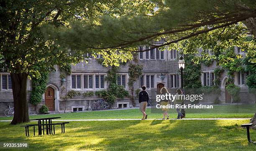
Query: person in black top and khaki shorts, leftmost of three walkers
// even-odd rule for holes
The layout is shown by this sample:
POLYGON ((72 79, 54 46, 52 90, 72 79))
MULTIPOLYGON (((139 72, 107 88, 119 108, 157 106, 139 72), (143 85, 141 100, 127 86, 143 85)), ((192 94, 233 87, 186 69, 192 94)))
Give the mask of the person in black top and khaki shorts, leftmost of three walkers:
POLYGON ((143 118, 141 120, 145 120, 148 118, 148 115, 146 114, 146 109, 147 109, 147 102, 149 100, 148 97, 148 92, 146 92, 146 87, 142 86, 142 91, 139 93, 139 103, 140 103, 140 110, 141 113, 143 114, 143 118))

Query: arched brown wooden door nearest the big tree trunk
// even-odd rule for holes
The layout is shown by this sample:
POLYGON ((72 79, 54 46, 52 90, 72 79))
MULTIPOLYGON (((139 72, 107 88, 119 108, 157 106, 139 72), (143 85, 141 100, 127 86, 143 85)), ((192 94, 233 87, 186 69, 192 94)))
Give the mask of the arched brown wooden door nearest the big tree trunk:
POLYGON ((47 87, 44 93, 45 105, 49 108, 49 111, 54 110, 54 89, 47 87))

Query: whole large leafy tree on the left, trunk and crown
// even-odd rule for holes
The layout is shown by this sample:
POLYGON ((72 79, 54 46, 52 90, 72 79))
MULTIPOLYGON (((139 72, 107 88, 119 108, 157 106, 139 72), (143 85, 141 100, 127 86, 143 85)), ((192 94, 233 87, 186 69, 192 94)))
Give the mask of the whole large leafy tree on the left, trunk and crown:
MULTIPOLYGON (((118 65, 131 59, 131 53, 115 50, 60 48, 54 41, 44 38, 40 26, 69 26, 69 20, 97 23, 99 16, 136 15, 148 12, 143 0, 130 7, 133 0, 0 0, 0 69, 10 72, 14 117, 11 124, 29 120, 27 104, 27 78, 40 77, 55 64, 75 64, 84 59, 82 54, 100 53, 105 65, 118 65), (130 8, 129 8, 130 7, 130 8)), ((152 5, 153 6, 153 5, 152 5)), ((51 29, 49 29, 51 30, 51 29)), ((74 38, 82 35, 79 33, 74 38)), ((103 35, 102 35, 103 36, 103 35)), ((67 38, 70 38, 68 36, 67 38)))

